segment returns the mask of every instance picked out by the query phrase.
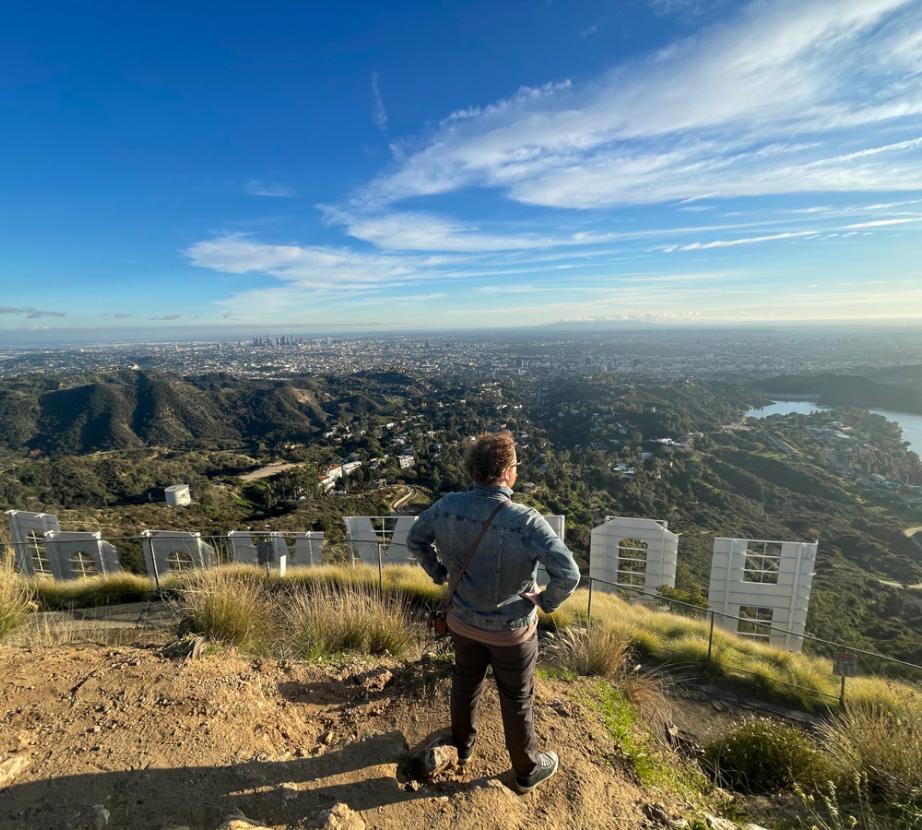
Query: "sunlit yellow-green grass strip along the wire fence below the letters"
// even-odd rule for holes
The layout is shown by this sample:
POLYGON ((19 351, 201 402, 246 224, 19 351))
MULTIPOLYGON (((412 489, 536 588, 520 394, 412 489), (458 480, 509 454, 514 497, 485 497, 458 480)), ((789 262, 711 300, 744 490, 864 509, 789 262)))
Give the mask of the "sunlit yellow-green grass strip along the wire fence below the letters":
MULTIPOLYGON (((274 602, 281 601, 282 594, 297 590, 349 591, 393 599, 408 612, 419 613, 437 605, 446 590, 444 585, 434 585, 415 565, 386 565, 381 575, 376 567, 364 564, 296 566, 289 568, 285 577, 275 572, 267 575, 255 565, 227 565, 220 571, 227 578, 260 586, 274 602)), ((197 579, 194 574, 167 577, 162 593, 175 598, 197 579)), ((37 601, 45 608, 79 608, 156 596, 150 580, 127 573, 75 582, 42 580, 32 585, 37 601)), ((553 614, 539 612, 539 626, 552 633, 585 627, 588 599, 586 589, 577 591, 553 614)), ((709 654, 710 623, 706 618, 632 605, 599 590, 593 592, 592 621, 624 632, 632 650, 644 661, 672 670, 703 671, 713 678, 757 690, 768 699, 806 710, 837 705, 839 682, 827 659, 792 654, 720 627, 714 629, 709 654)), ((850 678, 847 686, 848 700, 877 702, 893 711, 913 696, 918 695, 908 684, 874 677, 850 678)))

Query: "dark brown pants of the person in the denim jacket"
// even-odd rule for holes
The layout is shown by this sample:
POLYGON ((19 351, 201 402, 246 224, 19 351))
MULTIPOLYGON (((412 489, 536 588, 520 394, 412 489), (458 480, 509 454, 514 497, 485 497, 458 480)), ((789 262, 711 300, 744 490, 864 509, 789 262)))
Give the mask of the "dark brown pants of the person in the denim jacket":
POLYGON ((538 635, 517 646, 488 646, 451 632, 455 667, 451 679, 451 731, 462 752, 477 737, 477 709, 487 666, 499 691, 506 749, 520 778, 530 776, 538 763, 535 738, 535 663, 538 635))

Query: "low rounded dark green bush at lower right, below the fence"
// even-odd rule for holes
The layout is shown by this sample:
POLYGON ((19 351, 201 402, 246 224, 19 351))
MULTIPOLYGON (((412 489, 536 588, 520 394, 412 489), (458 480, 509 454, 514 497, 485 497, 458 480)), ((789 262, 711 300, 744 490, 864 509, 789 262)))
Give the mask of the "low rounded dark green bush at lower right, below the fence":
POLYGON ((705 762, 719 784, 749 793, 780 792, 795 784, 816 789, 833 774, 802 730, 768 718, 743 721, 712 741, 705 762))

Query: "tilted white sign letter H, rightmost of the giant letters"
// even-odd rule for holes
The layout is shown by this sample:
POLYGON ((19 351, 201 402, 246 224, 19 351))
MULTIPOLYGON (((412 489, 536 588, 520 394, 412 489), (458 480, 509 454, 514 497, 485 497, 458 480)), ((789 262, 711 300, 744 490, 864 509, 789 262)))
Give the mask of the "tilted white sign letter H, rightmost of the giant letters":
POLYGON ((716 617, 717 625, 800 652, 817 547, 817 542, 714 539, 708 604, 729 615, 716 617))

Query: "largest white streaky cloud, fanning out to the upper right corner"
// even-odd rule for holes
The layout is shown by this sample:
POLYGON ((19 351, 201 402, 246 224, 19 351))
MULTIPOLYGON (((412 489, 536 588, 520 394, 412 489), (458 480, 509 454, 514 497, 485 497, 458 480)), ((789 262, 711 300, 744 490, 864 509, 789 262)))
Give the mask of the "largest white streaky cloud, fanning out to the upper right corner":
POLYGON ((471 186, 592 208, 922 187, 918 0, 781 0, 596 81, 453 113, 358 196, 471 186), (897 140, 881 142, 882 131, 897 140), (910 131, 906 135, 906 131, 910 131), (914 134, 913 134, 914 133, 914 134))

